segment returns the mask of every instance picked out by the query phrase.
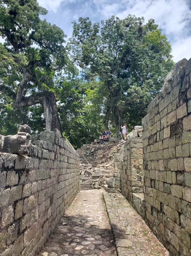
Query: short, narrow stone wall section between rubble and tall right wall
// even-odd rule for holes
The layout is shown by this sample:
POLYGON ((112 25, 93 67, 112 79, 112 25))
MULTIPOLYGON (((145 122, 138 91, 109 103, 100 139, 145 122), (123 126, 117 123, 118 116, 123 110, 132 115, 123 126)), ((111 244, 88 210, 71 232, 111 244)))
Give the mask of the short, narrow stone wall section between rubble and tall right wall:
POLYGON ((142 127, 135 126, 128 134, 121 165, 121 192, 133 202, 133 193, 143 192, 142 127))

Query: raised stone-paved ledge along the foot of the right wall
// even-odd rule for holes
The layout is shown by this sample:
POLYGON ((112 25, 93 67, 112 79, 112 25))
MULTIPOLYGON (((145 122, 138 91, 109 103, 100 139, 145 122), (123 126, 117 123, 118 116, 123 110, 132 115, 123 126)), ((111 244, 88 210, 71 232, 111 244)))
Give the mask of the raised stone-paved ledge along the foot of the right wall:
POLYGON ((118 256, 170 256, 121 194, 104 192, 118 256))

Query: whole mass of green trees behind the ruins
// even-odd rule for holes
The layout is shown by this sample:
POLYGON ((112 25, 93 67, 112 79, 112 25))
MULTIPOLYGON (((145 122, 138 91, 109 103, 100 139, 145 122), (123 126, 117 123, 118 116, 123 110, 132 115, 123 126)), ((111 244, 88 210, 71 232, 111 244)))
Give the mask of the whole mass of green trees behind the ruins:
POLYGON ((58 128, 80 147, 108 126, 118 136, 140 124, 173 66, 154 20, 79 18, 66 42, 46 13, 36 0, 0 2, 0 134, 58 128))

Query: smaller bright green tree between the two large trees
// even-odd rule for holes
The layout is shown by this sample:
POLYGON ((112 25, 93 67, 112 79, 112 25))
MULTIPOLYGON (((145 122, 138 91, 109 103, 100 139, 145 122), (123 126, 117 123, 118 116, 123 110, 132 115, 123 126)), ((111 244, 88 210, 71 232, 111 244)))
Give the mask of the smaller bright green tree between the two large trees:
POLYGON ((102 105, 99 81, 82 79, 60 81, 59 111, 65 137, 75 148, 99 138, 103 129, 102 105))

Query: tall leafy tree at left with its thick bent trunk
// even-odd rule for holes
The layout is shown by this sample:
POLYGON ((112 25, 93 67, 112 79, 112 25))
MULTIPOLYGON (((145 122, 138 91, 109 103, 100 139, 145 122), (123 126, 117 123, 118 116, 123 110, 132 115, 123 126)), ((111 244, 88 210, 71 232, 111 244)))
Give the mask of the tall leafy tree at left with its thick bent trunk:
POLYGON ((40 20, 46 13, 36 0, 1 1, 0 91, 11 94, 19 108, 42 104, 46 130, 62 132, 54 76, 66 67, 65 34, 40 20))

